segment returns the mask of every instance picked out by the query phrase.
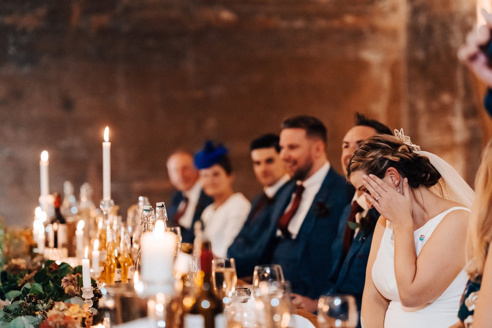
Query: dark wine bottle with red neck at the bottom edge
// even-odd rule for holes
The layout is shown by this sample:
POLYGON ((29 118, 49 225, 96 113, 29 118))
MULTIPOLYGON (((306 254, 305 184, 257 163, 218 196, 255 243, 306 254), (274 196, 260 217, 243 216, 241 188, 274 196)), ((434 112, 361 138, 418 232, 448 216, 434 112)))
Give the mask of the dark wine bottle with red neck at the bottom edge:
POLYGON ((200 248, 201 270, 195 278, 196 292, 183 300, 184 328, 225 327, 222 301, 212 289, 212 246, 204 240, 200 248))

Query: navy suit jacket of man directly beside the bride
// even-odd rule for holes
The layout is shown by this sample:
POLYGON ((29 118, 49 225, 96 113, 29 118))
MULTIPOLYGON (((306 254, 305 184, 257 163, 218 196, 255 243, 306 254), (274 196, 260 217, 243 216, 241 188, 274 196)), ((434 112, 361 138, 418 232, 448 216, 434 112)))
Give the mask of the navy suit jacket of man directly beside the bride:
POLYGON ((376 209, 369 209, 366 217, 361 219, 363 221, 361 222, 361 228, 352 241, 347 256, 342 261, 343 239, 349 215, 350 204, 343 211, 337 239, 333 243, 332 257, 334 258, 334 266, 330 275, 330 281, 333 286, 328 292, 354 296, 360 313, 372 235, 374 234, 379 213, 376 209))

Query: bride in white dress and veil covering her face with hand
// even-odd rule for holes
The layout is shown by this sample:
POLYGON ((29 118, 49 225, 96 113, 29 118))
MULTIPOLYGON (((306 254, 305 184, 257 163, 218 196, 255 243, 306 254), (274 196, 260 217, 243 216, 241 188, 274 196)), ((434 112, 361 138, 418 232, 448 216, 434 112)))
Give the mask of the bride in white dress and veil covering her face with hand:
POLYGON ((347 178, 381 213, 362 326, 449 327, 467 281, 465 242, 474 193, 449 164, 420 151, 402 132, 369 138, 347 166, 347 178))

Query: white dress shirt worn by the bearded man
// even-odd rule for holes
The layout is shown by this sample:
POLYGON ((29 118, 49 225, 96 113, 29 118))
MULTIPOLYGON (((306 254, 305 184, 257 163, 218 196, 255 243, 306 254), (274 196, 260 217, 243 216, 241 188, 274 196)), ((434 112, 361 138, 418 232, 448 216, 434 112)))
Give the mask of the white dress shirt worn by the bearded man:
MULTIPOLYGON (((301 203, 299 204, 299 208, 296 213, 290 220, 289 226, 287 230, 291 233, 292 239, 296 239, 297 234, 299 233, 299 229, 306 218, 307 212, 311 208, 312 202, 314 201, 314 197, 318 193, 321 188, 321 184, 323 184, 323 180, 326 178, 328 171, 330 170, 330 163, 326 161, 323 166, 316 171, 312 176, 307 178, 304 181, 297 181, 297 184, 302 184, 304 186, 304 192, 301 198, 301 203)), ((292 202, 294 200, 295 193, 292 194, 292 199, 290 200, 289 206, 285 209, 284 213, 287 212, 292 206, 292 202)), ((280 230, 277 231, 277 236, 280 236, 280 230)))

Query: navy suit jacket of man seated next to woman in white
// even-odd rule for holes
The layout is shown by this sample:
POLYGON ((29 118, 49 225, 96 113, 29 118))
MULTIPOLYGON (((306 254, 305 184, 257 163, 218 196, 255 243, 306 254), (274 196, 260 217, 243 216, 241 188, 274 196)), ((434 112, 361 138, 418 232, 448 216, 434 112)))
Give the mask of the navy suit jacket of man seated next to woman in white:
POLYGON ((284 183, 277 190, 270 204, 260 210, 253 221, 251 221, 251 216, 255 213, 255 209, 261 201, 263 193, 256 196, 251 203, 251 210, 249 211, 245 225, 227 250, 227 257, 236 260, 238 277, 251 276, 254 266, 264 263, 262 256, 270 239, 268 227, 271 225, 272 210, 274 209, 275 202, 278 200, 278 195, 281 194, 287 185, 288 182, 284 183))

